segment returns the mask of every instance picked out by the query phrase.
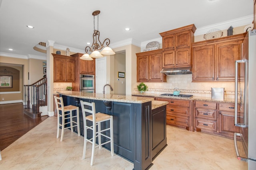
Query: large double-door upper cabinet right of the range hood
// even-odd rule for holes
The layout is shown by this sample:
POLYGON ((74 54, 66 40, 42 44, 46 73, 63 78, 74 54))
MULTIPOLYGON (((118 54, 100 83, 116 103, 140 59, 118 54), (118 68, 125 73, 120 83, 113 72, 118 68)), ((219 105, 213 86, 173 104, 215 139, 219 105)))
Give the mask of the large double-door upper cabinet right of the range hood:
POLYGON ((234 81, 246 33, 192 43, 192 82, 234 81))

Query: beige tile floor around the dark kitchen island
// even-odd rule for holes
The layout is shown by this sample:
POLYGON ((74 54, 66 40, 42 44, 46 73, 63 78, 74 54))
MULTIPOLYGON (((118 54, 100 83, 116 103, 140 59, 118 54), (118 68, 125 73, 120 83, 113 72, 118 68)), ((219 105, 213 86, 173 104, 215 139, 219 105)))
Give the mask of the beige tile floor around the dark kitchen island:
MULTIPOLYGON (((96 149, 90 166, 90 148, 82 160, 83 137, 65 130, 56 138, 56 117, 49 117, 9 147, 1 150, 0 170, 132 170, 133 164, 110 151, 96 149)), ((168 146, 150 170, 246 170, 236 159, 232 139, 190 132, 167 125, 168 146)), ((240 145, 240 147, 242 147, 240 145)))

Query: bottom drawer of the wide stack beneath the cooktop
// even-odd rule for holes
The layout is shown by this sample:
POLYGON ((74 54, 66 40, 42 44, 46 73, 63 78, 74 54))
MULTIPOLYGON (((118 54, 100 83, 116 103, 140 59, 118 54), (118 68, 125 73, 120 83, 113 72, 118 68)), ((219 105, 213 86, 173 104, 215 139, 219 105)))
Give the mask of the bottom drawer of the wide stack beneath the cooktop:
POLYGON ((166 114, 166 124, 174 126, 188 127, 188 117, 166 114))

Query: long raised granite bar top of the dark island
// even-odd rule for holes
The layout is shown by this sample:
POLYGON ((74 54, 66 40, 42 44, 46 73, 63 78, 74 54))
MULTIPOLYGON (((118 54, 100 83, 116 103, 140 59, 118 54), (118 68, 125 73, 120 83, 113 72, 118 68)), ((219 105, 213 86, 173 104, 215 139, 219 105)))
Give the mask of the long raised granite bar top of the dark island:
POLYGON ((123 96, 115 94, 102 94, 102 93, 88 93, 78 91, 57 91, 58 94, 65 96, 71 96, 74 98, 84 98, 92 100, 104 100, 111 102, 123 102, 123 103, 146 103, 151 102, 154 98, 150 97, 137 97, 137 96, 123 96))

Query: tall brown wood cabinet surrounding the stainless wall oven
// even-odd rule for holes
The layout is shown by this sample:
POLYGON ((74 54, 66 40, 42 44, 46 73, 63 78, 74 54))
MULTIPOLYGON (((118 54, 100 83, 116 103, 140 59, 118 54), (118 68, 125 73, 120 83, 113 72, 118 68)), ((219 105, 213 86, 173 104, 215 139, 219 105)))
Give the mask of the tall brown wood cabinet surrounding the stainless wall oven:
MULTIPOLYGON (((95 74, 95 59, 91 61, 81 60, 82 53, 71 55, 76 59, 76 81, 72 83, 72 90, 80 91, 80 74, 95 74)), ((94 84, 95 85, 95 84, 94 84)))

